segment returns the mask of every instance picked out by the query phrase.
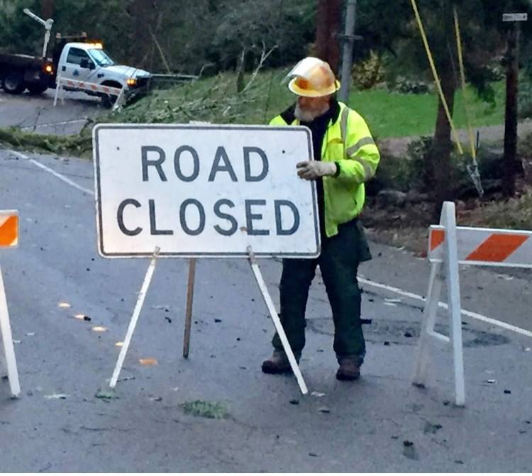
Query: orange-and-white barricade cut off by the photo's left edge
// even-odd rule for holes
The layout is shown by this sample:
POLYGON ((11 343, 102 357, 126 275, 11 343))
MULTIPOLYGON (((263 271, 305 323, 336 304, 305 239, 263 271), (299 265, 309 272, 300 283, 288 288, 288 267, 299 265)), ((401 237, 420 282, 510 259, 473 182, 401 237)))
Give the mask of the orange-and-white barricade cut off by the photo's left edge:
MULTIPOLYGON (((0 248, 13 248, 18 245, 18 212, 0 211, 0 248)), ((11 394, 18 397, 21 393, 21 386, 18 383, 18 370, 16 367, 15 349, 13 348, 13 336, 11 335, 11 324, 7 310, 6 291, 4 289, 4 279, 0 268, 0 345, 4 349, 0 351, 0 365, 2 375, 6 372, 9 378, 11 394)))

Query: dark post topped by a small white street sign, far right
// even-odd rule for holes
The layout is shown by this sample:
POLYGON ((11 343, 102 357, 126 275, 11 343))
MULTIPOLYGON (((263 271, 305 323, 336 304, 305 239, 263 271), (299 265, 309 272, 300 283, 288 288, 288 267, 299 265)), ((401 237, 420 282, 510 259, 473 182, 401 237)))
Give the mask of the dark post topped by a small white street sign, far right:
POLYGON ((504 120, 504 175, 502 190, 505 197, 516 192, 517 157, 517 92, 519 90, 519 22, 527 21, 526 13, 505 13, 502 21, 514 23, 508 31, 506 50, 506 118, 504 120))

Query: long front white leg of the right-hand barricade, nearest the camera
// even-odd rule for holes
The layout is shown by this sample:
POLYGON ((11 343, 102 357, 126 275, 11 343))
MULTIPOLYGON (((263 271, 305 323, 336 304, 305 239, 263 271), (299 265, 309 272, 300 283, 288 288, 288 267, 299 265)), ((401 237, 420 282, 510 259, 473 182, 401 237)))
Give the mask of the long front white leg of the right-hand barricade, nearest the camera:
POLYGON ((449 306, 450 340, 453 343, 455 372, 455 403, 465 405, 464 355, 462 348, 462 309, 460 304, 460 276, 458 272, 458 240, 456 236, 455 204, 446 201, 442 210, 445 226, 445 280, 449 306))

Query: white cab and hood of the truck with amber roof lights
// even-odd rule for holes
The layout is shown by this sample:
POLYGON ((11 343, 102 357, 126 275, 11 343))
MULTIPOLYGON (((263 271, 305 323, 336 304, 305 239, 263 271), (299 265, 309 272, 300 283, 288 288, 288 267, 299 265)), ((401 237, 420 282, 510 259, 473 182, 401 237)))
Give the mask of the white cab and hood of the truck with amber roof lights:
MULTIPOLYGON (((99 42, 65 43, 56 65, 57 76, 132 92, 148 87, 150 73, 117 65, 99 42)), ((91 93, 89 93, 91 94, 91 93)), ((96 93, 94 93, 96 94, 96 93)))

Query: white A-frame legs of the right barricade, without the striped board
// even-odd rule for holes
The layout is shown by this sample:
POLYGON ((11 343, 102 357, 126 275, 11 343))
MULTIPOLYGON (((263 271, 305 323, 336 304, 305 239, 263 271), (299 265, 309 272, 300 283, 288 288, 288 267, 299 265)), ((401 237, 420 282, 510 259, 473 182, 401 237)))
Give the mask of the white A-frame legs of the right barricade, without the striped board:
POLYGON ((445 257, 443 262, 432 264, 431 277, 416 358, 414 385, 425 387, 430 363, 431 343, 453 346, 455 375, 455 404, 465 405, 464 357, 462 352, 462 320, 460 317, 460 281, 458 275, 458 245, 456 232, 455 204, 445 201, 440 216, 440 225, 445 227, 445 257), (434 330, 436 312, 443 283, 447 287, 448 322, 450 337, 434 330))

